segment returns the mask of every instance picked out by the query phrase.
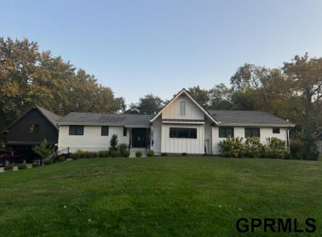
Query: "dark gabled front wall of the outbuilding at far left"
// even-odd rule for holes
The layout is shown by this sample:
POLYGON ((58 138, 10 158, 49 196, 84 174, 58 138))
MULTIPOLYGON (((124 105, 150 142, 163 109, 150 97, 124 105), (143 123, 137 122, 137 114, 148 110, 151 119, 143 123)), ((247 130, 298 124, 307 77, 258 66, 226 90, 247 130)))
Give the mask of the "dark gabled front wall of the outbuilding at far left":
POLYGON ((58 141, 58 131, 37 109, 32 109, 10 128, 6 140, 41 143, 44 138, 47 139, 48 144, 55 144, 58 141), (38 133, 29 132, 31 124, 39 125, 38 133))

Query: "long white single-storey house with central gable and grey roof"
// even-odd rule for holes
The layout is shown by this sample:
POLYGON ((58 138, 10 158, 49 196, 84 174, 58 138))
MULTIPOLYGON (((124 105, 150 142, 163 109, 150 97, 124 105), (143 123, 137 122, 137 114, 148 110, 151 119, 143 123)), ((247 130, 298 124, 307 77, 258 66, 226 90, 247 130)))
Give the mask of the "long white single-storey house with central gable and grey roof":
POLYGON ((107 150, 113 134, 128 144, 131 156, 140 149, 155 155, 220 154, 219 141, 232 137, 277 137, 289 144, 293 124, 262 111, 206 110, 182 89, 156 115, 69 113, 58 121, 58 150, 107 150))

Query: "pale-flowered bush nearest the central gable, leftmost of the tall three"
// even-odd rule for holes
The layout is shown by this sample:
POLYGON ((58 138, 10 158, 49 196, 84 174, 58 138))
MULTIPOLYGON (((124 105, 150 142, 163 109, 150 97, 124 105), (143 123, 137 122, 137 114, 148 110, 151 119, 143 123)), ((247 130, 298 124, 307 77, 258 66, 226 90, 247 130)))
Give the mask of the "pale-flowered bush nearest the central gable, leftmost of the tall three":
POLYGON ((220 141, 221 155, 224 157, 243 157, 245 149, 242 141, 243 138, 231 138, 230 136, 220 141))

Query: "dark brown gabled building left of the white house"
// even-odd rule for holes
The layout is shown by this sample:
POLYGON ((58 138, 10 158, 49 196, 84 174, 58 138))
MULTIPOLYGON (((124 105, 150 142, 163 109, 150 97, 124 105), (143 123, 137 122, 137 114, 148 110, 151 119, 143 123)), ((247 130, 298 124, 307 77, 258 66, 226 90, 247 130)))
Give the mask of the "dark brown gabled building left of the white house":
POLYGON ((7 135, 6 148, 23 153, 26 160, 34 159, 32 148, 39 145, 44 138, 48 145, 57 144, 59 127, 56 121, 59 118, 61 116, 45 108, 32 106, 4 130, 7 135))

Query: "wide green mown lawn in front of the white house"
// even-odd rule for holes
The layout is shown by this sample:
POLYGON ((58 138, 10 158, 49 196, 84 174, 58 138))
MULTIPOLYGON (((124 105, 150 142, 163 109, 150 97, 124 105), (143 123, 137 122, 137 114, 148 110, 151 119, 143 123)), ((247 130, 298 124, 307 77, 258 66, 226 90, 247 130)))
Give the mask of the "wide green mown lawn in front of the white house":
POLYGON ((241 217, 312 217, 296 236, 322 236, 321 161, 82 159, 0 173, 0 187, 0 236, 248 236, 241 217))

